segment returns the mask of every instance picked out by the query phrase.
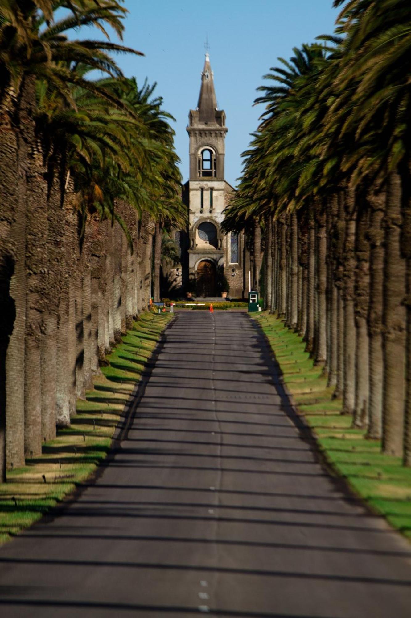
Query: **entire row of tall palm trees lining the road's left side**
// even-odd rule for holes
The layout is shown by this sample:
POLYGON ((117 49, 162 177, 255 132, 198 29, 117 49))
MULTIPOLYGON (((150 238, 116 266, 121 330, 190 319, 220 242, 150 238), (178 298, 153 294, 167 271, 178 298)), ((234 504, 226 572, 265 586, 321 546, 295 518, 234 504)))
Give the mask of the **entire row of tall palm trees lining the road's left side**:
POLYGON ((113 57, 141 55, 107 35, 126 13, 0 0, 0 480, 69 425, 185 225, 171 116, 113 57), (107 38, 69 38, 90 26, 107 38))

